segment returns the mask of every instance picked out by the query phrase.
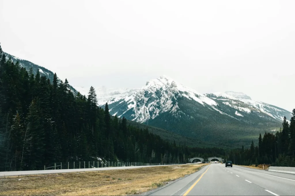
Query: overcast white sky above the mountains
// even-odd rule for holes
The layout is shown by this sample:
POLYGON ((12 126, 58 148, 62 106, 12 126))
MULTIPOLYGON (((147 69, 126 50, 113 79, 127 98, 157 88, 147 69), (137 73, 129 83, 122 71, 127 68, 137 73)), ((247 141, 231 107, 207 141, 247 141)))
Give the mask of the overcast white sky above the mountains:
POLYGON ((0 0, 2 49, 73 86, 163 74, 295 108, 295 1, 0 0), (293 89, 292 89, 293 88, 293 89))

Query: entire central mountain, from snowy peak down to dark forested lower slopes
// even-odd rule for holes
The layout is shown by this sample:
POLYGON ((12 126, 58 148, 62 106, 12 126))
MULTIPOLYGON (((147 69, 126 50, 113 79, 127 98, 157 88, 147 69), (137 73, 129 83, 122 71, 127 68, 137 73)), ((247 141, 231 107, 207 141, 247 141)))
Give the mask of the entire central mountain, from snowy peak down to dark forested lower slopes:
POLYGON ((110 91, 102 96, 101 107, 105 102, 112 115, 203 140, 222 140, 216 139, 220 131, 239 138, 245 135, 246 140, 253 134, 278 130, 284 116, 291 118, 289 111, 252 100, 244 93, 201 94, 165 75, 139 89, 110 91), (102 101, 104 98, 110 99, 102 101))

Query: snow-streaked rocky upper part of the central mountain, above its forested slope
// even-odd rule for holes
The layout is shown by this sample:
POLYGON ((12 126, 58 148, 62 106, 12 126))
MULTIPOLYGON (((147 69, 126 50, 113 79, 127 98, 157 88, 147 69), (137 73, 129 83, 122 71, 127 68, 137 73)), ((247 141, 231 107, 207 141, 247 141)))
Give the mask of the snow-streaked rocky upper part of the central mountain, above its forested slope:
POLYGON ((263 113, 278 121, 281 121, 284 116, 291 116, 287 110, 252 100, 244 93, 226 91, 224 93, 201 94, 165 75, 148 81, 140 89, 109 89, 109 92, 106 93, 104 90, 103 93, 102 88, 98 88, 96 92, 98 92, 97 95, 100 95, 98 96, 100 97, 99 105, 104 105, 107 102, 113 115, 121 117, 125 113, 132 113, 130 117, 133 118, 130 120, 141 123, 156 118, 160 113, 181 111, 177 101, 180 97, 194 100, 204 107, 232 118, 243 117, 244 113, 250 114, 251 112, 263 113), (226 113, 222 111, 222 108, 219 108, 224 105, 234 108, 236 111, 226 113))

